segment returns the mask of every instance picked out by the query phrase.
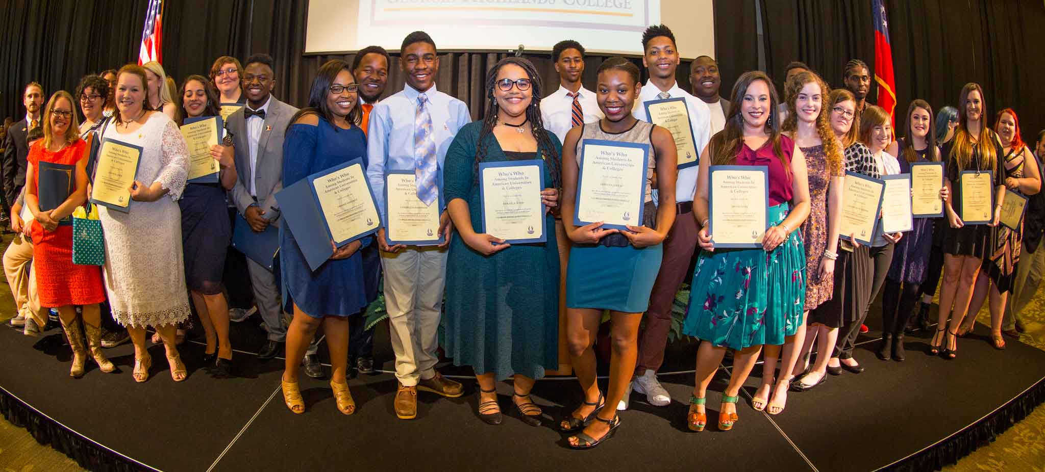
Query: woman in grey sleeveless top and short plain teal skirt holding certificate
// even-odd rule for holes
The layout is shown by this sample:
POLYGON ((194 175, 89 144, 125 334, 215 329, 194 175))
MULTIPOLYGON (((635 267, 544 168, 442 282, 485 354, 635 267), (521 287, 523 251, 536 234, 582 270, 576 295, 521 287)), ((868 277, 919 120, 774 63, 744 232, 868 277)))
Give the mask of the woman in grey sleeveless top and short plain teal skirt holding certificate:
POLYGON ((571 129, 562 146, 562 214, 574 215, 562 218, 574 242, 566 266, 567 338, 584 402, 559 427, 580 431, 566 440, 576 449, 598 446, 621 424, 617 405, 631 382, 638 354, 638 323, 660 269, 660 243, 675 218, 675 140, 668 129, 631 115, 641 87, 638 68, 628 60, 610 57, 602 63, 596 101, 605 117, 571 129), (588 165, 600 162, 613 165, 588 165), (658 207, 652 196, 654 169, 658 207), (594 187, 593 193, 585 192, 581 185, 585 182, 594 187), (600 200, 601 194, 613 199, 600 200), (621 212, 616 206, 620 202, 628 202, 621 212), (616 221, 580 216, 598 215, 607 208, 614 210, 605 213, 606 219, 618 218, 616 221), (591 350, 604 310, 610 311, 612 323, 605 397, 596 383, 591 350))

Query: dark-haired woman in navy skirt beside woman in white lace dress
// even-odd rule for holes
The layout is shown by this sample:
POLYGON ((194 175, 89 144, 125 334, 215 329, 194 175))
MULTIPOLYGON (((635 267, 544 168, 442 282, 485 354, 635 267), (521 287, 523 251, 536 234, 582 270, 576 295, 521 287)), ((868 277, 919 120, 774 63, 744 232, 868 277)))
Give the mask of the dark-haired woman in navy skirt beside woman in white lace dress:
MULTIPOLYGON (((202 75, 189 75, 182 82, 180 91, 182 110, 182 133, 185 136, 200 136, 203 131, 210 140, 186 140, 189 143, 192 164, 202 157, 216 161, 218 175, 203 175, 195 182, 189 181, 178 200, 182 210, 182 250, 185 254, 185 282, 189 287, 192 305, 200 315, 207 333, 207 348, 204 362, 214 364, 218 377, 229 376, 232 371, 232 345, 229 344, 229 304, 222 292, 222 275, 225 269, 225 255, 232 238, 232 226, 226 210, 225 192, 236 183, 235 163, 232 146, 207 144, 212 140, 220 142, 222 129, 216 128, 217 120, 204 119, 219 114, 217 92, 202 75), (190 123, 188 121, 191 121, 190 123), (189 128, 189 126, 209 126, 189 128), (188 132, 186 132, 189 129, 188 132), (213 133, 210 135, 209 133, 213 133), (213 181, 206 178, 211 176, 213 181)), ((190 170, 190 174, 192 174, 190 170)))

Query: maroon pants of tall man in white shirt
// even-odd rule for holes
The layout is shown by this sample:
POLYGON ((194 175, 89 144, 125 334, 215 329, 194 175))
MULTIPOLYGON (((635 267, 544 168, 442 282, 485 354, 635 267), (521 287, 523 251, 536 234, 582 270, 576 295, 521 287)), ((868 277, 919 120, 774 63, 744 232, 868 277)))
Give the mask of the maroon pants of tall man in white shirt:
POLYGON ((650 305, 645 314, 646 328, 638 334, 635 375, 643 375, 647 369, 656 371, 664 363, 664 349, 668 345, 668 332, 671 330, 671 306, 675 302, 678 286, 686 280, 693 253, 697 251, 698 230, 692 204, 683 203, 678 207, 675 223, 664 240, 660 272, 656 275, 656 282, 650 292, 650 305), (681 210, 686 210, 686 213, 681 210))

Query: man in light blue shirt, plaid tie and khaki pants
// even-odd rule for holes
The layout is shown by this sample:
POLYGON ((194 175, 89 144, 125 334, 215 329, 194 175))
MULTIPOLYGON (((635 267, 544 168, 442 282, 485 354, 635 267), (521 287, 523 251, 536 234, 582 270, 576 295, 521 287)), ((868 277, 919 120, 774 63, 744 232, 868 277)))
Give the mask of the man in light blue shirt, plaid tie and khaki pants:
MULTIPOLYGON (((402 91, 374 105, 367 134, 369 165, 367 179, 373 189, 381 219, 388 220, 385 202, 385 172, 418 172, 418 196, 439 205, 443 160, 458 129, 471 122, 468 107, 436 90, 439 56, 436 44, 423 31, 407 36, 400 48, 407 76, 402 91), (415 143, 418 143, 415 145, 415 143), (422 193, 424 196, 422 196, 422 193)), ((452 223, 441 209, 440 246, 388 245, 385 230, 378 230, 385 269, 385 302, 389 331, 395 352, 396 416, 410 420, 417 416, 417 391, 456 398, 463 394, 460 383, 436 372, 439 360, 439 316, 442 311, 446 276, 446 245, 452 223)))

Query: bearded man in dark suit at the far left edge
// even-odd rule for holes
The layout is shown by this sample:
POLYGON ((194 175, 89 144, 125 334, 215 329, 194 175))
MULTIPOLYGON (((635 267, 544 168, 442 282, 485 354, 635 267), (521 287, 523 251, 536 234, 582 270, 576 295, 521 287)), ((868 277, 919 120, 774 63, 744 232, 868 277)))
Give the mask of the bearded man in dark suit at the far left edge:
MULTIPOLYGON (((29 156, 29 144, 26 137, 29 129, 42 126, 41 108, 44 105, 44 88, 30 81, 22 89, 22 104, 25 105, 25 119, 11 124, 7 128, 6 142, 3 151, 3 191, 7 205, 14 205, 18 194, 25 186, 25 169, 28 166, 25 158, 29 156)), ((10 207, 7 208, 8 214, 10 207)))

